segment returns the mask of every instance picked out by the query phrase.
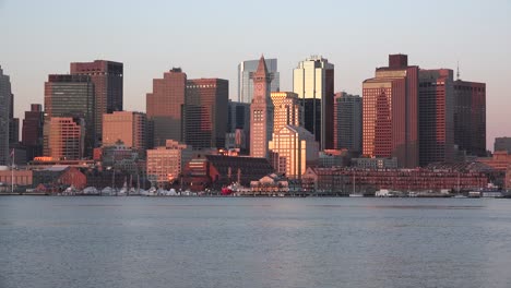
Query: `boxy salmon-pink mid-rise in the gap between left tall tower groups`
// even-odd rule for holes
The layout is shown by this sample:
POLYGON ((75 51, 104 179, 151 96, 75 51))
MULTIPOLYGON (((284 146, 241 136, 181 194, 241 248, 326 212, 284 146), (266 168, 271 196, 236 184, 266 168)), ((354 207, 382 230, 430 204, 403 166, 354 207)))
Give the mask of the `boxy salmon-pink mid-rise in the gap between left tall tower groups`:
POLYGON ((103 116, 103 146, 121 141, 128 148, 147 148, 147 118, 143 112, 114 111, 103 116))

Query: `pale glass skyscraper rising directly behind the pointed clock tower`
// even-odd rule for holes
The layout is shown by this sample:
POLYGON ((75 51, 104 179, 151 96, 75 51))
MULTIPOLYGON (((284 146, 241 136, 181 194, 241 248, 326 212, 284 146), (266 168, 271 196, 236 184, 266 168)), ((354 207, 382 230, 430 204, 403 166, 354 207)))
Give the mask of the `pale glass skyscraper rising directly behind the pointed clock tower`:
MULTIPOLYGON (((268 72, 273 77, 270 84, 271 92, 278 92, 281 89, 280 73, 277 72, 277 60, 265 59, 268 72)), ((238 101, 239 103, 252 103, 253 98, 253 80, 252 75, 257 71, 259 60, 242 61, 238 64, 238 101)))

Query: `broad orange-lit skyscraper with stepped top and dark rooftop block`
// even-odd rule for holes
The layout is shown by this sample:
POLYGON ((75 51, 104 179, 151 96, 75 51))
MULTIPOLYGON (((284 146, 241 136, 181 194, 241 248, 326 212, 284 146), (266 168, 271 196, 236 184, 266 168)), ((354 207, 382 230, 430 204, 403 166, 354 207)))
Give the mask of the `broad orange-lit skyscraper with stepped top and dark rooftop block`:
POLYGON ((389 67, 377 68, 364 81, 363 154, 396 157, 401 167, 418 166, 418 67, 406 55, 389 56, 389 67))

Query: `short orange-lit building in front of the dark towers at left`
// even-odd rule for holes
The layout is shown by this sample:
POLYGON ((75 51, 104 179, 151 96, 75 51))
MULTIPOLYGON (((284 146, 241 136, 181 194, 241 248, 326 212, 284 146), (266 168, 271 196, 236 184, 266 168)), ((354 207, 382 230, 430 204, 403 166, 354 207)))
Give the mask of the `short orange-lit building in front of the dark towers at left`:
POLYGON ((85 121, 82 118, 47 118, 43 133, 43 155, 56 160, 78 160, 83 158, 85 131, 85 121))

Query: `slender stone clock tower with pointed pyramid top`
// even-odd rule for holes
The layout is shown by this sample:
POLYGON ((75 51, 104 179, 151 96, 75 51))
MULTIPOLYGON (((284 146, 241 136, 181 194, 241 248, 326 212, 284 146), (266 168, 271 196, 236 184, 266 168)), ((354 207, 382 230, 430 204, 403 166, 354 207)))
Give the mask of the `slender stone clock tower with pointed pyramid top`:
POLYGON ((252 80, 254 88, 250 105, 250 156, 268 158, 268 143, 273 133, 273 103, 270 97, 272 76, 263 56, 259 59, 252 80))

